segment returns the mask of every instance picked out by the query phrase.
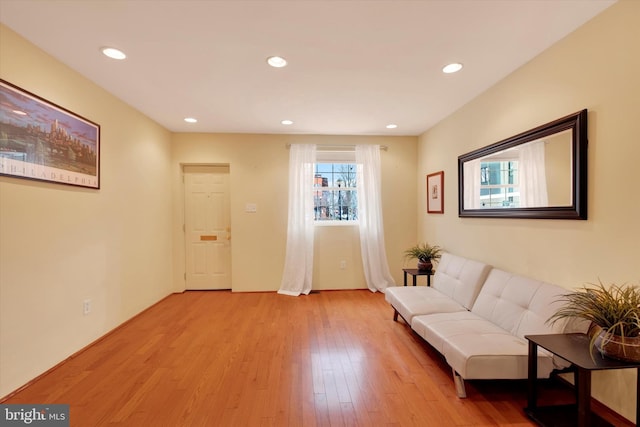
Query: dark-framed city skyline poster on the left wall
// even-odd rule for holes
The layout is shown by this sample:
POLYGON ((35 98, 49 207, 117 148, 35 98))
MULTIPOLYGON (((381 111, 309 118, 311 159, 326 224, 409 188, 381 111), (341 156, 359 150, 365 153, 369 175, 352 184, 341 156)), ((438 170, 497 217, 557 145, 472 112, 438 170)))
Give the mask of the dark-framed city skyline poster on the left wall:
POLYGON ((100 188, 100 125, 0 79, 0 175, 100 188))

